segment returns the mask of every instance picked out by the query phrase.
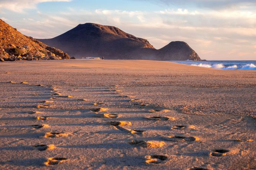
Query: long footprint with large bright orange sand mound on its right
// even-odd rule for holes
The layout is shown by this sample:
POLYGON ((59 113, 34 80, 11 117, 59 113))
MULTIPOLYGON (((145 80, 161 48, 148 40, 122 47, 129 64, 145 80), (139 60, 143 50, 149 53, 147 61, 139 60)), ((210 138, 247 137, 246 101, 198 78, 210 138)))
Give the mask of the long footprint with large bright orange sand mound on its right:
POLYGON ((128 142, 130 145, 133 146, 141 146, 143 148, 160 148, 165 145, 164 141, 144 141, 144 140, 132 140, 128 142))

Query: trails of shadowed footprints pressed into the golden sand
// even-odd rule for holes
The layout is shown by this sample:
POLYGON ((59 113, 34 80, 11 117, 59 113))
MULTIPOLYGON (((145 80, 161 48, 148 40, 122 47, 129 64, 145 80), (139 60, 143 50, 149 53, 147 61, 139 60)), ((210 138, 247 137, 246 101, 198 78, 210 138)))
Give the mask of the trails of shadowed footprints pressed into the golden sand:
MULTIPOLYGON (((10 81, 9 83, 15 83, 13 81, 10 81)), ((28 84, 27 82, 21 82, 21 84, 28 84)), ((39 84, 37 86, 44 86, 42 84, 39 84)), ((67 95, 63 96, 60 92, 58 92, 58 89, 55 86, 52 87, 52 94, 50 94, 50 100, 44 100, 40 104, 35 106, 35 108, 40 109, 40 108, 48 108, 50 107, 51 103, 54 103, 53 99, 57 99, 58 97, 66 97, 66 98, 73 98, 75 96, 67 95)), ((118 85, 115 86, 110 86, 107 88, 107 90, 103 91, 108 91, 108 92, 114 92, 115 94, 118 94, 118 97, 122 98, 130 98, 128 102, 131 102, 133 105, 139 105, 141 106, 150 106, 149 103, 141 102, 143 100, 141 99, 134 99, 134 96, 128 96, 128 95, 123 95, 120 90, 117 90, 118 85), (133 99, 131 99, 133 98, 133 99)), ((34 94, 34 95, 39 95, 39 94, 34 94)), ((78 99, 81 101, 88 101, 88 99, 78 99)), ((104 102, 95 102, 93 105, 98 106, 98 105, 103 105, 104 102)), ((116 119, 118 118, 118 114, 111 114, 111 113, 106 113, 109 109, 100 107, 100 108, 94 108, 91 109, 91 112, 93 113, 93 116, 96 118, 109 118, 109 119, 116 119)), ((170 110, 167 109, 156 109, 152 108, 151 110, 148 110, 149 113, 154 113, 154 114, 160 114, 160 113, 168 113, 170 110)), ((31 111, 29 114, 40 114, 40 111, 31 111)), ((36 120, 42 120, 46 121, 49 119, 47 116, 36 116, 36 120)), ((151 121, 175 121, 175 118, 169 117, 169 116, 151 116, 151 117, 145 117, 145 119, 151 120, 151 121)), ((106 122, 107 125, 113 127, 114 129, 120 130, 123 133, 128 133, 131 135, 134 135, 134 137, 141 137, 145 130, 139 130, 139 129, 126 129, 123 126, 132 126, 131 122, 128 121, 108 121, 106 122)), ((41 129, 41 128, 47 128, 49 125, 47 124, 35 124, 31 125, 33 129, 41 129)), ((171 127, 173 130, 186 130, 186 129, 195 129, 196 127, 193 125, 187 126, 187 125, 174 125, 171 127)), ((53 132, 47 132, 44 134, 45 138, 56 138, 56 137, 68 137, 68 133, 64 132, 58 132, 58 131, 53 131, 53 132)), ((166 145, 166 142, 193 142, 193 141, 199 141, 200 139, 198 137, 193 137, 193 136, 169 136, 169 137, 162 137, 161 140, 150 140, 150 141, 145 141, 145 140, 139 140, 138 138, 135 138, 134 140, 131 140, 128 142, 129 145, 134 146, 134 147, 142 147, 142 148, 160 148, 166 145)), ((54 149, 54 145, 45 145, 45 144, 39 144, 39 145, 34 145, 34 148, 36 148, 39 151, 45 151, 45 150, 50 150, 54 149)), ((229 150, 227 149, 214 149, 211 151, 210 155, 214 157, 220 157, 220 156, 225 156, 229 150)), ((146 164, 162 164, 168 160, 168 157, 165 155, 147 155, 144 157, 145 163, 146 164)), ((68 159, 64 157, 50 157, 47 161, 44 162, 45 165, 57 165, 62 162, 66 162, 68 159)), ((190 168, 190 170, 205 170, 204 168, 197 168, 193 167, 190 168)))

